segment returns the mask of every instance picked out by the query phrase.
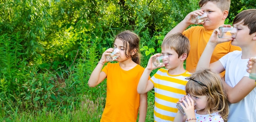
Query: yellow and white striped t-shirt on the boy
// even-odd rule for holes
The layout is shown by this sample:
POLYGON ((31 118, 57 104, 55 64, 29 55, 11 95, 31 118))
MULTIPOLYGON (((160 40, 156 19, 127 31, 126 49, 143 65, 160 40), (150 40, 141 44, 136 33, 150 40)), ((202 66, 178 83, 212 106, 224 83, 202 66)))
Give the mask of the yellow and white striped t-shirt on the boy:
POLYGON ((155 122, 172 122, 178 111, 176 105, 185 94, 187 77, 191 74, 186 71, 183 74, 168 74, 168 69, 159 69, 150 81, 155 89, 155 122))

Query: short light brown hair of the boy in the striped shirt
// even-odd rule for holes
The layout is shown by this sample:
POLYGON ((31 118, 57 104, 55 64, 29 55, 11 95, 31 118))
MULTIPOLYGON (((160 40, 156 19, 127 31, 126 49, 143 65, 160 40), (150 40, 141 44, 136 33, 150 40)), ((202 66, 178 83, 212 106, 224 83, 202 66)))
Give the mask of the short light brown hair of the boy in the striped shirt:
POLYGON ((166 37, 163 40, 161 48, 175 50, 175 52, 177 52, 178 54, 178 57, 180 57, 183 53, 186 53, 188 57, 190 43, 189 39, 185 35, 182 35, 181 33, 176 33, 166 37))

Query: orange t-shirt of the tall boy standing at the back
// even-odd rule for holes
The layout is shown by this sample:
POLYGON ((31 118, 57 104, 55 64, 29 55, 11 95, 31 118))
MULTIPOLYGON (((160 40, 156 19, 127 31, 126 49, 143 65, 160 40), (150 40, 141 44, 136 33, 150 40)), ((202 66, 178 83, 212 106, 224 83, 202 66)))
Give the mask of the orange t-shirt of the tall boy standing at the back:
MULTIPOLYGON (((192 26, 185 30, 183 34, 190 41, 190 52, 186 59, 186 70, 194 72, 196 65, 207 45, 213 30, 206 30, 203 26, 192 26)), ((218 44, 213 51, 210 63, 218 61, 221 57, 234 50, 241 50, 238 46, 232 46, 231 41, 218 44)), ((222 76, 225 72, 222 72, 222 76)))

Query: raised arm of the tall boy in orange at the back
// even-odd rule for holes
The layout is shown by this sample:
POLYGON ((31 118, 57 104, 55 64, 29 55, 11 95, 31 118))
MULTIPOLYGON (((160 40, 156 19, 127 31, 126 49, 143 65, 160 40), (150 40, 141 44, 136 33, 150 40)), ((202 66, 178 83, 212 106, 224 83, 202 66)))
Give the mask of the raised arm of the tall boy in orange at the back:
MULTIPOLYGON (((195 10, 192 11, 191 13, 189 13, 188 15, 186 15, 186 17, 184 18, 184 20, 182 20, 179 24, 177 24, 177 26, 175 26, 172 30, 170 30, 165 37, 168 37, 169 35, 175 34, 175 33, 182 33, 188 26, 190 26, 191 24, 193 24, 191 22, 191 17, 193 15, 202 15, 204 13, 203 9, 200 10, 195 10)), ((202 22, 203 24, 204 22, 202 22)))

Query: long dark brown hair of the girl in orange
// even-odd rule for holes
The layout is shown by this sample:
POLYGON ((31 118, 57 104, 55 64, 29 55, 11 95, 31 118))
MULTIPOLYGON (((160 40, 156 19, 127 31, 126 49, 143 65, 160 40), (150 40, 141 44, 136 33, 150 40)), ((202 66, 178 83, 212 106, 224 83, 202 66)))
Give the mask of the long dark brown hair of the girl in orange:
POLYGON ((115 40, 116 39, 120 39, 123 41, 124 47, 126 47, 126 50, 125 50, 126 57, 127 58, 131 57, 132 61, 134 61, 137 64, 140 64, 140 56, 141 55, 139 53, 139 36, 130 30, 125 30, 125 31, 119 33, 115 37, 115 40), (137 50, 134 55, 132 55, 133 49, 137 50))

